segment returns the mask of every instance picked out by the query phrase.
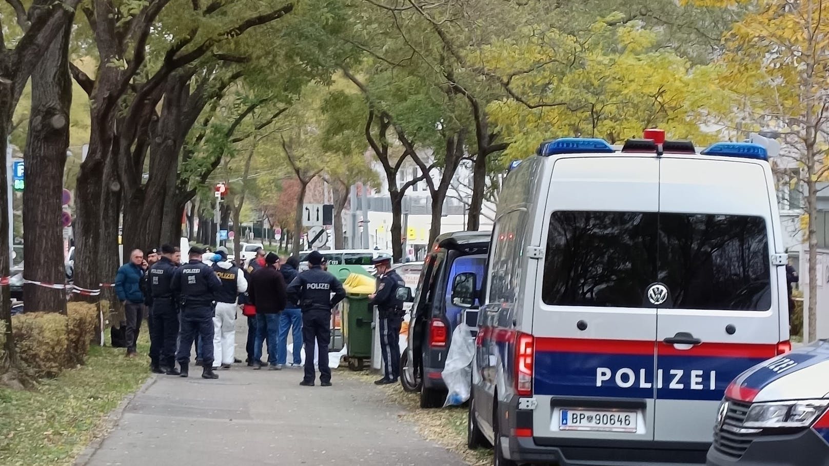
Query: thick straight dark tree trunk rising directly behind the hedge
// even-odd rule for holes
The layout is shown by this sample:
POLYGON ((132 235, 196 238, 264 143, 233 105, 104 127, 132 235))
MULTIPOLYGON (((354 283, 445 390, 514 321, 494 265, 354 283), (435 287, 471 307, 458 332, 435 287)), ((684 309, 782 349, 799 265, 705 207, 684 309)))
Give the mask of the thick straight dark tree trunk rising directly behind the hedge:
MULTIPOLYGON (((61 191, 66 149, 69 147, 69 109, 72 104, 72 78, 69 74, 69 37, 71 22, 46 49, 32 73, 32 114, 24 161, 28 167, 27 187, 23 190, 24 255, 26 278, 45 283, 66 282, 61 235, 61 191)), ((30 311, 66 313, 63 289, 23 285, 24 300, 30 311)))

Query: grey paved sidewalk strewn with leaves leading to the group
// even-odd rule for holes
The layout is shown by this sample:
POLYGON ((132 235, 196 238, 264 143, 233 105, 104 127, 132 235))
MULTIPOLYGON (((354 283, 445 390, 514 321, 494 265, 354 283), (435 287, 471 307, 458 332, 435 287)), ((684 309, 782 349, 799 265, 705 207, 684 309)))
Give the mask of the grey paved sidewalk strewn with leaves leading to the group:
MULTIPOLYGON (((239 330, 237 356, 244 360, 245 329, 239 330)), ((200 367, 187 379, 158 376, 86 464, 463 464, 399 420, 402 409, 380 390, 337 371, 332 387, 299 386, 301 369, 253 371, 244 363, 219 376, 205 381, 200 367)))

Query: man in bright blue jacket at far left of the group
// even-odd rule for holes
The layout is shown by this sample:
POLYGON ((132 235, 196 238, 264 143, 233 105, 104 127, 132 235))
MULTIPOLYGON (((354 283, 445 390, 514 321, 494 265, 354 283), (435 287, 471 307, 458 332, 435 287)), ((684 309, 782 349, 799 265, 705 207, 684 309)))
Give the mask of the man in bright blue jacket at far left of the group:
POLYGON ((122 265, 115 275, 115 293, 124 305, 127 318, 127 331, 124 338, 127 345, 127 357, 137 357, 135 342, 138 341, 138 332, 141 329, 143 318, 144 294, 141 291, 141 280, 147 262, 144 261, 142 250, 133 250, 129 254, 129 262, 122 265))

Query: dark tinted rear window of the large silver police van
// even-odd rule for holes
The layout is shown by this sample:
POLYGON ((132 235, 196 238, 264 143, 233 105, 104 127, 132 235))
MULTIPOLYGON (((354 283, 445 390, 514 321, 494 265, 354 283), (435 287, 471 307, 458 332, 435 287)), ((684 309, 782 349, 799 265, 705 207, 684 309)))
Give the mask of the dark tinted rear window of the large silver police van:
POLYGON ((766 310, 771 306, 765 221, 756 216, 557 211, 550 217, 543 301, 562 306, 766 310))

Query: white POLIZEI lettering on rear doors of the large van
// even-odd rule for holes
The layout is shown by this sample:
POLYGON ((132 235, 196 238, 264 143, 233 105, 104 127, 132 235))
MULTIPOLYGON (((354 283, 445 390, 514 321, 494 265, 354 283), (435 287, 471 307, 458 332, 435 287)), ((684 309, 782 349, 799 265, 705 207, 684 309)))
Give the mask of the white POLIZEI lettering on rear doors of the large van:
POLYGON ((596 367, 596 386, 619 388, 667 388, 670 390, 716 390, 717 371, 687 371, 685 369, 658 369, 654 381, 652 371, 622 367, 612 371, 608 367, 596 367))

